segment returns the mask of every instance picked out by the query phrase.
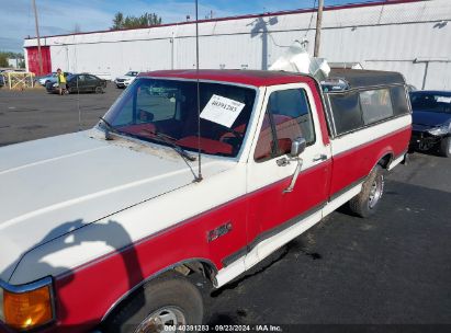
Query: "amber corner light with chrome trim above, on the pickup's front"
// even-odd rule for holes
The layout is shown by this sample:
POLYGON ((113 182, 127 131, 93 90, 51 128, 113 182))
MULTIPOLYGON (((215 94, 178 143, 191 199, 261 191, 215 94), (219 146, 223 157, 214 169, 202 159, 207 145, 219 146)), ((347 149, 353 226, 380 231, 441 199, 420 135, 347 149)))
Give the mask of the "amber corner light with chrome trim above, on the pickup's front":
POLYGON ((15 330, 31 330, 53 321, 52 279, 22 286, 0 282, 0 320, 15 330))

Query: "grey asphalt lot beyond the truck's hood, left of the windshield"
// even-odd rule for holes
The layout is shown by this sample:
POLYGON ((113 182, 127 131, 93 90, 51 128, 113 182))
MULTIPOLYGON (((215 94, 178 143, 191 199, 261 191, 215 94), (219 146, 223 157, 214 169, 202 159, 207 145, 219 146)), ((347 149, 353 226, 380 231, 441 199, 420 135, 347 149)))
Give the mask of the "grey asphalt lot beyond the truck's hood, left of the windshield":
POLYGON ((0 89, 0 146, 92 127, 122 91, 113 83, 104 94, 63 96, 48 94, 45 89, 0 89))

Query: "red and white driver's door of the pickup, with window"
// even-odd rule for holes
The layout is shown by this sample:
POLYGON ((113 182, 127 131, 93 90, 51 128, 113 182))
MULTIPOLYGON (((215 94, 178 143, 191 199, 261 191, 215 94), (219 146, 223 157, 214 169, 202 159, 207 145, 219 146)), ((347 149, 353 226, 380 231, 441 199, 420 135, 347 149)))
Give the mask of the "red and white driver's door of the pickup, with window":
POLYGON ((260 119, 259 134, 252 143, 253 153, 248 161, 247 267, 322 218, 330 177, 330 147, 322 140, 317 110, 308 85, 295 83, 268 88, 263 108, 264 116, 260 119), (302 166, 295 185, 287 192, 298 168, 298 161, 287 153, 291 141, 297 137, 303 137, 307 147, 300 156, 302 166))

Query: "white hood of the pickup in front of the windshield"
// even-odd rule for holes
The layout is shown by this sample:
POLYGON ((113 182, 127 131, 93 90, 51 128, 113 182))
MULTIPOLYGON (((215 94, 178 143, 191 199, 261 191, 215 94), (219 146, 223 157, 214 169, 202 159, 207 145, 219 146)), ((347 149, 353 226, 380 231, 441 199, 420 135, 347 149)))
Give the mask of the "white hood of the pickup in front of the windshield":
MULTIPOLYGON (((202 161, 204 175, 236 163, 202 161)), ((106 141, 97 129, 0 148, 0 279, 10 279, 26 252, 70 232, 57 227, 93 222, 193 180, 172 149, 106 141)))

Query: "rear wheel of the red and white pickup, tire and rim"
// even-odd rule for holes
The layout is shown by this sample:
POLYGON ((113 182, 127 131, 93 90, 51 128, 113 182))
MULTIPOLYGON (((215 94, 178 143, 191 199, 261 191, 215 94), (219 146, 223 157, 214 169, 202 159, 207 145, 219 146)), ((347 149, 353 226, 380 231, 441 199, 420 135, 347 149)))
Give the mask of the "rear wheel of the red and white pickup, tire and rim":
POLYGON ((374 166, 362 185, 362 191, 349 202, 349 207, 360 217, 373 215, 384 193, 384 174, 381 165, 374 166))

